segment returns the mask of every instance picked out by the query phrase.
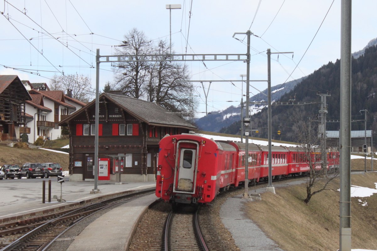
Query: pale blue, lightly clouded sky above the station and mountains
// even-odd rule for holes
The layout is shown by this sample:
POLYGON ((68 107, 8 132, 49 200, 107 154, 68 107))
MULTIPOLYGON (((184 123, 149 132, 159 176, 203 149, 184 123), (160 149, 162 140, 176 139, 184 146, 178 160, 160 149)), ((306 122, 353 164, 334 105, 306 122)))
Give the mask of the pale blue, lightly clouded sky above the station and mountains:
MULTIPOLYGON (((166 5, 180 4, 181 9, 171 11, 172 47, 176 54, 245 54, 245 35, 235 35, 238 40, 232 36, 250 30, 251 80, 267 80, 267 49, 294 52, 293 58, 292 54, 271 55, 271 85, 280 85, 340 58, 340 3, 341 0, 0 0, 0 74, 49 84, 54 75, 78 73, 88 76, 95 87, 96 49, 100 49, 100 55, 113 55, 114 46, 120 45, 133 28, 143 31, 153 43, 169 43, 170 12, 166 5)), ((376 9, 375 0, 352 2, 352 52, 377 37, 376 9)), ((186 64, 191 80, 225 80, 211 84, 208 112, 239 105, 246 86, 241 82, 232 85, 227 80, 241 80, 240 75, 247 71, 246 63, 186 64)), ((100 90, 106 82, 114 81, 110 63, 100 64, 99 81, 100 90)), ((198 99, 196 117, 202 117, 206 110, 204 90, 209 84, 204 82, 204 88, 200 83, 194 86, 198 99)), ((266 88, 265 82, 252 82, 250 96, 266 88)))

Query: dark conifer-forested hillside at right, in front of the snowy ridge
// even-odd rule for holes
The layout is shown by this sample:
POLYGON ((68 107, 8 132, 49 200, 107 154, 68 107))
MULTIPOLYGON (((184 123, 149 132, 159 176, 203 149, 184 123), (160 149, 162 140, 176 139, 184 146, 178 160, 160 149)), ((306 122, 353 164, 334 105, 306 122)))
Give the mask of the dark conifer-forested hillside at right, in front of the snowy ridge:
MULTIPOLYGON (((367 129, 377 131, 377 47, 371 46, 365 49, 364 55, 352 59, 352 85, 351 85, 351 119, 359 120, 352 123, 352 130, 364 129, 364 115, 360 110, 368 110, 367 129)), ((297 132, 295 127, 297 119, 308 117, 320 120, 320 96, 317 93, 331 92, 326 103, 328 114, 326 120, 340 119, 340 60, 335 63, 329 62, 310 74, 292 91, 284 94, 280 101, 287 101, 296 95, 296 104, 307 102, 310 105, 277 105, 272 107, 272 131, 282 132, 281 139, 296 141, 297 132), (313 103, 316 102, 316 103, 313 103)), ((260 113, 251 116, 251 125, 259 129, 259 137, 267 138, 267 108, 260 113)), ((236 134, 240 122, 234 122, 231 126, 223 128, 220 132, 236 134)), ((327 130, 339 130, 339 123, 327 123, 327 130)), ((274 134, 273 137, 278 135, 274 134)), ((279 136, 279 137, 280 137, 279 136)))

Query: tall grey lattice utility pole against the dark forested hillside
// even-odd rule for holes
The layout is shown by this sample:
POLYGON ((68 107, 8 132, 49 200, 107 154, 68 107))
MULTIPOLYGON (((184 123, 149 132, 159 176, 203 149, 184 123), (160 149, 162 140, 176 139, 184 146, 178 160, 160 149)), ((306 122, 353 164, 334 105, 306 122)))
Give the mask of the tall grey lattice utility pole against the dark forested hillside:
POLYGON ((318 132, 321 137, 321 158, 322 158, 322 170, 325 175, 327 175, 327 151, 326 151, 326 114, 327 114, 327 103, 326 97, 331 96, 331 92, 326 91, 325 93, 320 93, 317 91, 317 95, 321 96, 321 109, 319 110, 319 117, 321 118, 321 124, 318 126, 318 132))

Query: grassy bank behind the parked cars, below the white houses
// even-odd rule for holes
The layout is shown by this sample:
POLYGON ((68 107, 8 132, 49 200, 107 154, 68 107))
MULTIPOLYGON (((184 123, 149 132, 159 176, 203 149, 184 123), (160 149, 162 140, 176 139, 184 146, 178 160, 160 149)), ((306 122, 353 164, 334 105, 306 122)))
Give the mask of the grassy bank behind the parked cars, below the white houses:
POLYGON ((20 149, 0 144, 0 165, 17 164, 22 166, 24 163, 60 163, 63 171, 68 170, 69 155, 42 149, 20 149))

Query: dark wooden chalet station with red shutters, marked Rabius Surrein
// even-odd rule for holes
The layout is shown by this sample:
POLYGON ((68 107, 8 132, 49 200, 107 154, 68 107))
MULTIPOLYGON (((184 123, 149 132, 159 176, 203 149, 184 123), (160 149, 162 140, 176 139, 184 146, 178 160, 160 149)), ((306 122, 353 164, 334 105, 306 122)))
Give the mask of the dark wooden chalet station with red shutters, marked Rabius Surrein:
MULTIPOLYGON (((159 140, 197 128, 156 103, 113 93, 99 98, 98 160, 109 163, 104 180, 116 180, 119 164, 123 182, 155 180, 159 140)), ((69 129, 70 181, 94 179, 95 100, 59 125, 69 129)))

